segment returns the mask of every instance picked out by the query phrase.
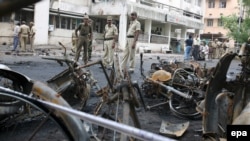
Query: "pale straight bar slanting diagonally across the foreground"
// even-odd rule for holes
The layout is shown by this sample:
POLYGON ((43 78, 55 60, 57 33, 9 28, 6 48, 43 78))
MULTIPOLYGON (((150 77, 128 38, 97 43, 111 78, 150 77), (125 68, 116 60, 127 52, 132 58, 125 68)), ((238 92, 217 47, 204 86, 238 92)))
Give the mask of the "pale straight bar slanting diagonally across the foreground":
POLYGON ((154 133, 151 133, 151 132, 148 132, 145 130, 137 129, 135 127, 124 125, 121 123, 117 123, 115 121, 104 119, 104 118, 94 116, 94 115, 91 115, 88 113, 80 112, 80 111, 77 111, 75 109, 64 107, 64 106, 54 104, 51 102, 43 101, 40 99, 35 99, 35 98, 29 97, 25 94, 22 94, 20 92, 13 91, 13 90, 10 90, 7 88, 0 87, 0 91, 1 90, 3 90, 2 92, 4 92, 4 91, 11 92, 11 93, 22 95, 23 97, 26 97, 27 99, 36 100, 36 101, 38 101, 38 102, 40 102, 48 107, 51 107, 57 111, 61 111, 61 112, 73 115, 73 116, 78 117, 82 120, 89 121, 91 123, 103 126, 105 128, 109 128, 111 130, 116 130, 118 132, 128 134, 129 136, 133 136, 133 137, 140 139, 140 140, 143 140, 143 141, 175 141, 174 139, 163 137, 161 135, 157 135, 157 134, 154 134, 154 133))

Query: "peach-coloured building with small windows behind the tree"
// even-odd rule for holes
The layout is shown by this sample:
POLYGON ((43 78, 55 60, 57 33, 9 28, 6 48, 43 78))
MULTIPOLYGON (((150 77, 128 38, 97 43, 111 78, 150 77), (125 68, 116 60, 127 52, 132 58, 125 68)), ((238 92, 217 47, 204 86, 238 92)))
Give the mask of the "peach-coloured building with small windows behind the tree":
POLYGON ((204 32, 201 38, 221 41, 227 38, 228 31, 223 28, 221 16, 239 15, 239 0, 206 0, 205 9, 204 32))

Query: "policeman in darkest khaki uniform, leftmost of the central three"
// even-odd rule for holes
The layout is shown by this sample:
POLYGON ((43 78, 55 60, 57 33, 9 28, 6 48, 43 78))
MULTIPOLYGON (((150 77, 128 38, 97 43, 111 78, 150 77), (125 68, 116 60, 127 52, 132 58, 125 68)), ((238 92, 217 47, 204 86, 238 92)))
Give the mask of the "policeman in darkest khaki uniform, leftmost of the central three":
POLYGON ((92 28, 88 24, 89 17, 88 15, 84 15, 83 23, 81 23, 77 29, 75 30, 76 38, 78 38, 77 48, 76 48, 76 56, 75 61, 79 60, 80 53, 83 46, 83 62, 86 65, 88 63, 88 45, 89 40, 92 40, 92 28), (78 37, 77 32, 80 31, 80 35, 78 37))

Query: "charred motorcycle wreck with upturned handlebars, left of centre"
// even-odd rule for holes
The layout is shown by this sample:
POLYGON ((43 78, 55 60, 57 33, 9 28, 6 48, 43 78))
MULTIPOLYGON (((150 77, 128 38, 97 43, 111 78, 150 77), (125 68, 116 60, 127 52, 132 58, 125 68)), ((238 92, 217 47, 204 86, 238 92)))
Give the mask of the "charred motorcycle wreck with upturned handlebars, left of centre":
MULTIPOLYGON (((49 87, 61 94, 70 104, 75 103, 72 98, 80 100, 79 110, 82 110, 89 98, 90 89, 92 86, 99 87, 97 81, 93 78, 92 72, 81 66, 78 62, 69 59, 66 55, 66 47, 59 42, 64 48, 63 57, 42 57, 47 60, 57 61, 60 65, 64 63, 68 66, 67 69, 47 80, 49 87)), ((78 103, 78 102, 76 102, 78 103)))

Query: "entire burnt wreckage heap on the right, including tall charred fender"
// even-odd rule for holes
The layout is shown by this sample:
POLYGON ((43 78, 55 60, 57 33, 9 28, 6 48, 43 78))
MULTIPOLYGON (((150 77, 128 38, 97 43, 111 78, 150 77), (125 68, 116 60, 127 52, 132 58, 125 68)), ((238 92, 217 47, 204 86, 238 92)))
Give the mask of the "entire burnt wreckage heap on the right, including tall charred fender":
POLYGON ((187 67, 181 62, 160 60, 151 65, 150 77, 145 77, 142 89, 148 96, 167 97, 171 111, 177 116, 197 118, 199 112, 203 140, 223 140, 227 138, 227 125, 250 124, 249 54, 248 41, 239 53, 224 54, 213 68, 200 67, 195 62, 187 67), (227 73, 235 58, 241 62, 241 71, 232 79, 227 73))

